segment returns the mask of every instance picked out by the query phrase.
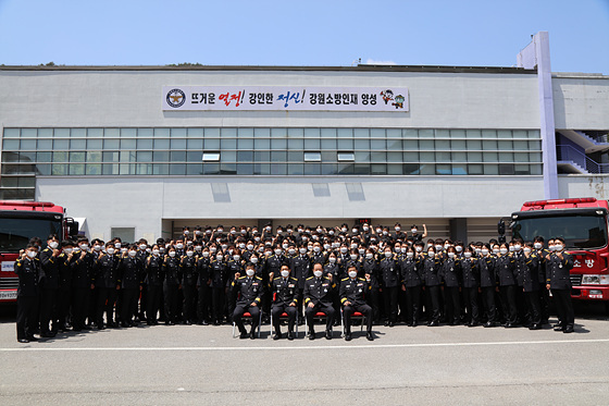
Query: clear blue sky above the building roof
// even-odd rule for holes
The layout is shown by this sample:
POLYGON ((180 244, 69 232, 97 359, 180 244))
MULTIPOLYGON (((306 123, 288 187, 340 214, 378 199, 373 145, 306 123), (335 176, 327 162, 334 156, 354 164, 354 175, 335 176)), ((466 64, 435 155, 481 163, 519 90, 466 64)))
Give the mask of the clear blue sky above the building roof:
POLYGON ((609 75, 609 0, 0 0, 0 64, 512 66, 609 75))

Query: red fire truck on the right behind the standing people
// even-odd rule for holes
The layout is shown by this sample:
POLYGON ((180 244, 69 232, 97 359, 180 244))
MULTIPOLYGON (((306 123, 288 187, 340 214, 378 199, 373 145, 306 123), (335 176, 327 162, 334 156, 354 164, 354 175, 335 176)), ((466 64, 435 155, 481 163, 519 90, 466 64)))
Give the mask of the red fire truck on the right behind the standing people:
MULTIPOLYGON (((512 213, 513 237, 533 241, 540 235, 547 242, 562 237, 566 249, 573 255, 571 297, 581 300, 604 300, 609 311, 609 273, 607 270, 607 200, 594 197, 526 201, 512 213)), ((504 220, 499 234, 505 232, 504 220)))

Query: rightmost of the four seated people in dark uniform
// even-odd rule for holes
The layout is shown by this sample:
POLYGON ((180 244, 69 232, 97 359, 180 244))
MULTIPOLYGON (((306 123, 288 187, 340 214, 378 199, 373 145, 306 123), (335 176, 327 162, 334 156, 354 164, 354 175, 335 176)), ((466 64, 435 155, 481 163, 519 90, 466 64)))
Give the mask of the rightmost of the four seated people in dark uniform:
POLYGON ((347 268, 348 278, 340 281, 340 304, 345 315, 345 341, 351 341, 351 316, 359 311, 365 316, 366 333, 369 341, 374 340, 372 334, 372 307, 365 303, 365 295, 370 292, 370 274, 365 279, 358 278, 358 269, 355 264, 347 268))

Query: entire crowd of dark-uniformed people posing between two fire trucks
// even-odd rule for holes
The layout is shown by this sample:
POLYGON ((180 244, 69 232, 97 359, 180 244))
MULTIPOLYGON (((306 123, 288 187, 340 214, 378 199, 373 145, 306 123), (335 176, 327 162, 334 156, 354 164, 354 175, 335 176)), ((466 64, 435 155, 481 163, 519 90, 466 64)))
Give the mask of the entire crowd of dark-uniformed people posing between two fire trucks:
POLYGON ((17 340, 154 325, 159 316, 170 325, 234 321, 243 339, 254 339, 260 320, 271 316, 274 340, 283 336, 282 317, 288 340, 303 319, 308 337, 315 339, 315 318, 325 318, 330 340, 341 317, 351 340, 352 315, 365 318, 368 340, 382 320, 389 327, 426 319, 430 327, 445 321, 536 330, 548 323, 550 290, 559 317, 555 330, 573 331, 573 260, 562 238, 547 247, 540 236, 526 243, 424 242, 423 227, 197 226, 156 244, 33 238, 15 262, 17 340))

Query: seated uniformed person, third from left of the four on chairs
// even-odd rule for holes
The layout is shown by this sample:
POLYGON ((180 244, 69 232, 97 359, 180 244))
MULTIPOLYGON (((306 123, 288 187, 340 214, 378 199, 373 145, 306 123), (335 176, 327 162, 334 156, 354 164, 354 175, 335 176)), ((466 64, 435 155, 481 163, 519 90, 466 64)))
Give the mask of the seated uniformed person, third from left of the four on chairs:
POLYGON ((332 340, 332 323, 334 320, 334 307, 332 306, 333 292, 335 284, 332 282, 332 273, 323 278, 323 267, 321 263, 313 266, 313 276, 304 282, 304 317, 309 324, 309 340, 315 340, 313 319, 315 313, 322 311, 326 316, 325 337, 332 340))

